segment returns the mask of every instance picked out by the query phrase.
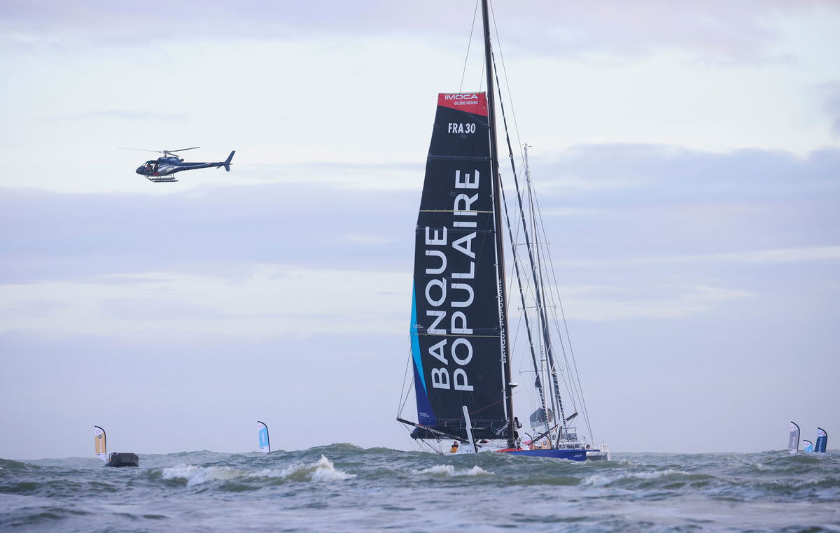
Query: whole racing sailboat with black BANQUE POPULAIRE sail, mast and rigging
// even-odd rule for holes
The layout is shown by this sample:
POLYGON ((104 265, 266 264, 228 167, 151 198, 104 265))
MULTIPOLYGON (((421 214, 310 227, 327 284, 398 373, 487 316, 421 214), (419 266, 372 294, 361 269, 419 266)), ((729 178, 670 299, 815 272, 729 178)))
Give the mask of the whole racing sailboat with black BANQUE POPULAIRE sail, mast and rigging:
MULTIPOLYGON (((519 259, 514 247, 512 264, 533 363, 526 374, 529 379, 533 374, 538 397, 536 410, 528 417, 530 427, 522 429, 515 415, 517 383, 512 379, 503 216, 512 244, 514 232, 499 173, 496 70, 486 0, 481 9, 486 92, 438 94, 415 238, 409 366, 417 421, 402 415, 410 387, 396 420, 412 428, 416 442, 440 453, 496 451, 574 461, 607 459, 606 444, 595 447, 570 426, 580 410, 589 427, 585 404, 566 414, 560 383, 566 383, 567 391, 579 391, 579 383, 569 384, 576 379, 576 368, 563 374, 552 341, 556 321, 550 320, 551 289, 543 277, 545 252, 536 238, 539 225, 533 224, 533 203, 530 210, 525 208, 513 169, 515 220, 517 227, 522 223, 518 231, 527 259, 519 259)), ((509 140, 507 144, 511 151, 509 140)), ((513 165, 512 153, 510 159, 513 165)), ((525 174, 530 197, 529 171, 525 174)))

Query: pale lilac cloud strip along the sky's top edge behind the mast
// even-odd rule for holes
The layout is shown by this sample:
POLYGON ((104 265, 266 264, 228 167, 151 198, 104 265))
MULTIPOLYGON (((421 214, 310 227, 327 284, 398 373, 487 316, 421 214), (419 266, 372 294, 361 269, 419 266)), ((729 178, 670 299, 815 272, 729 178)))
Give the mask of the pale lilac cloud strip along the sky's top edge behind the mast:
MULTIPOLYGON (((767 60, 780 39, 774 18, 792 13, 837 14, 829 0, 797 3, 555 3, 549 0, 494 6, 502 44, 553 55, 648 54, 664 47, 728 60, 767 60), (822 10, 822 11, 817 11, 822 10), (549 52, 550 51, 550 52, 549 52)), ((367 0, 309 3, 245 0, 147 3, 3 3, 0 23, 19 46, 122 44, 148 46, 171 39, 309 39, 331 36, 394 36, 463 43, 473 18, 469 3, 393 3, 367 0), (161 17, 160 13, 166 13, 161 17), (447 13, 441 16, 441 13, 447 13), (186 22, 186 24, 184 24, 186 22), (39 37, 40 36, 40 37, 39 37), (62 37, 57 37, 62 36, 62 37)))

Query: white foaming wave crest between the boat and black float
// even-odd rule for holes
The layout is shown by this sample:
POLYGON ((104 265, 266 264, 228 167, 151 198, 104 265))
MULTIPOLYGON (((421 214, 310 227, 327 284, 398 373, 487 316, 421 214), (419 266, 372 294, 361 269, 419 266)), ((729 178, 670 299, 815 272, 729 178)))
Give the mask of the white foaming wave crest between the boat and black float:
POLYGON ((197 465, 178 465, 163 468, 160 474, 164 479, 184 479, 186 486, 192 487, 209 481, 230 481, 244 478, 281 478, 290 481, 330 482, 354 478, 355 474, 346 473, 335 468, 326 456, 314 463, 297 462, 286 468, 263 468, 257 472, 250 472, 232 467, 202 467, 197 465))

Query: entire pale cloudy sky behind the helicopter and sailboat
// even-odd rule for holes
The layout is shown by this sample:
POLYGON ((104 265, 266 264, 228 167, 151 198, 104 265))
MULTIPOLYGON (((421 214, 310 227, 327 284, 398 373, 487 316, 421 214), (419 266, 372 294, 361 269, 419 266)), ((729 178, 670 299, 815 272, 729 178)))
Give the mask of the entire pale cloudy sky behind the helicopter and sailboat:
MULTIPOLYGON (((414 227, 438 92, 484 88, 474 13, 0 4, 0 457, 92 456, 93 425, 249 452, 257 420, 275 448, 412 449, 414 227), (190 146, 232 171, 151 183, 118 149, 190 146)), ((837 434, 840 4, 493 13, 596 441, 837 434)))

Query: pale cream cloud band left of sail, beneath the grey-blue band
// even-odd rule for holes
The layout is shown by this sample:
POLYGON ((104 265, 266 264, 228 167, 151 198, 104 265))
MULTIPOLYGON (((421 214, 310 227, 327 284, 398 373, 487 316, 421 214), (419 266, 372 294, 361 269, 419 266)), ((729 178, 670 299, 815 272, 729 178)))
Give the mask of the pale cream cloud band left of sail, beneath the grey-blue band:
POLYGON ((0 332, 59 329, 91 334, 159 331, 314 335, 402 330, 411 272, 243 264, 235 278, 181 272, 148 283, 96 280, 0 285, 0 332), (21 312, 27 311, 29 312, 21 312))

